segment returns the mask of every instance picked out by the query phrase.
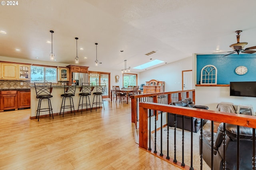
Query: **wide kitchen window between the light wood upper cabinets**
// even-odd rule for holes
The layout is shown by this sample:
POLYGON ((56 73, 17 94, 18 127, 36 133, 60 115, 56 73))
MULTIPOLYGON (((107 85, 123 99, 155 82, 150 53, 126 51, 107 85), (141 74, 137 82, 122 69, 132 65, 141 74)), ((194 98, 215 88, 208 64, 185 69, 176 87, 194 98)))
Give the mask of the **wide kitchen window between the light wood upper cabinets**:
POLYGON ((57 83, 57 68, 44 66, 31 66, 30 82, 52 82, 57 83))

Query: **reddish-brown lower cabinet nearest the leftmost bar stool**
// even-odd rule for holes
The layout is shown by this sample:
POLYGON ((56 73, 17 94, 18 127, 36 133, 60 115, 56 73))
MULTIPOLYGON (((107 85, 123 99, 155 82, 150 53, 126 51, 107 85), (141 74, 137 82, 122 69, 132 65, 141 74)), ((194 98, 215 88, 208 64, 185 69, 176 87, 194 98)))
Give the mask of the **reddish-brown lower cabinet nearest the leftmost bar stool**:
POLYGON ((30 90, 18 91, 18 109, 30 107, 30 90))

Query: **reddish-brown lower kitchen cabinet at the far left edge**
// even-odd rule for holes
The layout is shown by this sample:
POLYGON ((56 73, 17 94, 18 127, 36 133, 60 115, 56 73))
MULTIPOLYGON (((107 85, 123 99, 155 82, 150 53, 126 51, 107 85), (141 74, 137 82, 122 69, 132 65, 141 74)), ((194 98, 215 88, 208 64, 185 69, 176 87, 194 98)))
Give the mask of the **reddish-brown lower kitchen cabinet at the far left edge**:
POLYGON ((0 110, 17 109, 17 91, 1 91, 1 108, 0 110))

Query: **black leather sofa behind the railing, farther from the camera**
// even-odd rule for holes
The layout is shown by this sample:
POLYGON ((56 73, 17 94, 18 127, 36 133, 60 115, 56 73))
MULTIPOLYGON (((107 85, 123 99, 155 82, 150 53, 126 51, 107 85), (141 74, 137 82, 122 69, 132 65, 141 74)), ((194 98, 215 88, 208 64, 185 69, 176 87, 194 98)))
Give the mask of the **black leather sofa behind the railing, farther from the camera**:
MULTIPOLYGON (((191 98, 186 98, 184 100, 178 101, 178 102, 172 102, 170 105, 175 106, 183 106, 183 107, 192 107, 192 108, 198 108, 198 109, 208 109, 208 106, 202 106, 202 105, 194 105, 194 102, 191 98)), ((174 116, 173 113, 168 113, 168 125, 170 127, 174 127, 174 116)), ((191 119, 193 119, 193 132, 198 132, 201 127, 201 119, 196 117, 188 117, 184 116, 184 129, 191 131, 191 119)), ((207 122, 207 120, 203 119, 203 125, 207 122)), ((182 115, 176 115, 176 127, 182 129, 182 115)))

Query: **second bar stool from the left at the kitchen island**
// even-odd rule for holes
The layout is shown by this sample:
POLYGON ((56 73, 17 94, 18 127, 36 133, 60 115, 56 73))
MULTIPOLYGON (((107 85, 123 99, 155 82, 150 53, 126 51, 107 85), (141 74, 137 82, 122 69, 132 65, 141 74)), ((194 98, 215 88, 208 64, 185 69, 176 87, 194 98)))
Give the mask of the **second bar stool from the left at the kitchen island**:
POLYGON ((76 92, 76 83, 64 83, 64 94, 60 95, 62 98, 62 102, 61 102, 61 107, 60 107, 60 113, 61 110, 63 109, 63 116, 64 117, 64 109, 70 108, 71 109, 71 113, 72 113, 72 108, 74 109, 74 115, 76 115, 75 113, 75 108, 74 108, 74 102, 73 102, 73 96, 75 96, 75 92, 76 92), (66 105, 66 98, 69 98, 70 100, 70 105, 66 105), (71 103, 72 101, 72 103, 71 103), (63 106, 64 104, 64 106, 63 106))

